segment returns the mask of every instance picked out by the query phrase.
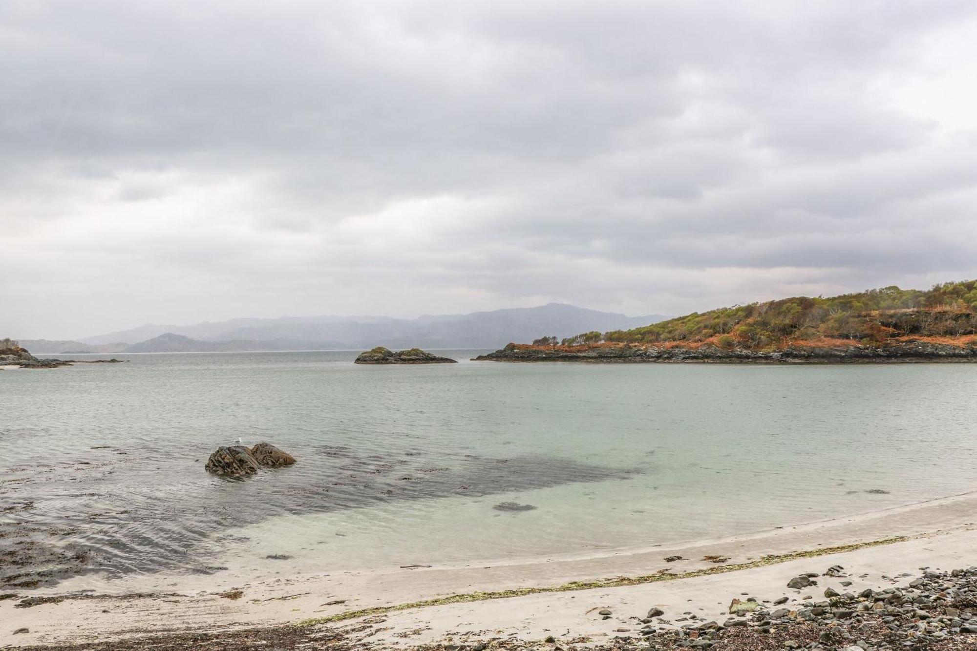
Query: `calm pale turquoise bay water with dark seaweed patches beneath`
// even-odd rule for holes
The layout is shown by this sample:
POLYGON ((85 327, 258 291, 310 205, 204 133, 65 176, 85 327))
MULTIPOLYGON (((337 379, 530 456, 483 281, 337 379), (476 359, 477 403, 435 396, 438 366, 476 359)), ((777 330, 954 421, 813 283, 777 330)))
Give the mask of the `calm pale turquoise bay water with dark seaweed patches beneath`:
POLYGON ((71 586, 114 589, 219 567, 601 553, 977 488, 977 366, 354 357, 137 355, 0 371, 0 522, 49 526, 58 544, 90 551, 95 571, 71 586), (204 472, 237 437, 299 463, 240 482, 204 472))

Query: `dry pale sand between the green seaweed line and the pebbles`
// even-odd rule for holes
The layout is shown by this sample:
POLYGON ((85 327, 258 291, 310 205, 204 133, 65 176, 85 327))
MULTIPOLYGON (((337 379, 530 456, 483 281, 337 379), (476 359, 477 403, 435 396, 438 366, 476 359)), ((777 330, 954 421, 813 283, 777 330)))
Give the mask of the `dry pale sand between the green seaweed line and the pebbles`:
POLYGON ((537 640, 547 635, 564 639, 584 636, 600 642, 615 635, 638 634, 639 619, 653 606, 663 610, 663 619, 676 626, 681 623, 676 624, 674 620, 684 617, 683 613, 694 613, 706 621, 722 624, 730 617, 730 600, 733 597, 745 599, 743 593, 770 601, 781 596, 799 599, 807 594, 818 599, 823 598, 828 586, 839 592, 850 590, 856 593, 866 587, 905 586, 912 578, 904 577, 893 582, 882 579, 882 575, 897 577, 912 573, 915 577, 922 566, 950 570, 975 562, 977 532, 965 532, 694 579, 432 606, 386 615, 382 618, 386 621, 374 624, 375 629, 381 629, 379 632, 364 632, 372 633, 369 640, 392 646, 512 634, 537 640), (823 573, 833 564, 854 573, 847 578, 853 582, 852 586, 841 586, 846 579, 821 577, 817 587, 786 588, 786 583, 798 574, 823 573), (868 576, 859 578, 861 575, 868 576), (605 608, 613 613, 609 620, 598 614, 605 608), (394 636, 394 633, 404 631, 417 632, 405 638, 394 636))

